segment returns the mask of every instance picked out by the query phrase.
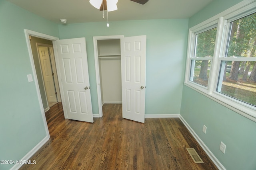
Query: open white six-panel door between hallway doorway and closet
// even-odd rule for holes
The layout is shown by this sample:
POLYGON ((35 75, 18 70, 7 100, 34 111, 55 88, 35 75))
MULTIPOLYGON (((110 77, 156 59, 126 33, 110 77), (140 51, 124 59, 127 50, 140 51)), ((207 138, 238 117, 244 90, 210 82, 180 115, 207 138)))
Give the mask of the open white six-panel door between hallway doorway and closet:
POLYGON ((93 122, 85 38, 54 41, 66 118, 93 122))

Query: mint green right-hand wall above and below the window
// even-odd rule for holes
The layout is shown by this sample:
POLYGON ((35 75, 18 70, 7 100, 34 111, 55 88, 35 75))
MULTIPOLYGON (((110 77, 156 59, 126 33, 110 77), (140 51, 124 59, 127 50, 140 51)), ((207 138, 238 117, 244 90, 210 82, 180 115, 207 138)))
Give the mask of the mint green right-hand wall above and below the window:
MULTIPOLYGON (((189 19, 194 26, 241 0, 214 0, 189 19)), ((227 170, 256 170, 256 123, 183 86, 180 114, 227 170), (203 133, 203 125, 207 132, 203 133), (220 151, 220 142, 226 152, 220 151)))

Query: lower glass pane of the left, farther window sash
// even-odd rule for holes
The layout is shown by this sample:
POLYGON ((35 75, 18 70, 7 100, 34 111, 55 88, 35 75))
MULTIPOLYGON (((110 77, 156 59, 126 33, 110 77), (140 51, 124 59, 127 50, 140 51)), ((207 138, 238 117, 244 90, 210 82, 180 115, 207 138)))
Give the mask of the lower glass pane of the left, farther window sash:
POLYGON ((190 81, 208 86, 211 60, 192 60, 190 81))

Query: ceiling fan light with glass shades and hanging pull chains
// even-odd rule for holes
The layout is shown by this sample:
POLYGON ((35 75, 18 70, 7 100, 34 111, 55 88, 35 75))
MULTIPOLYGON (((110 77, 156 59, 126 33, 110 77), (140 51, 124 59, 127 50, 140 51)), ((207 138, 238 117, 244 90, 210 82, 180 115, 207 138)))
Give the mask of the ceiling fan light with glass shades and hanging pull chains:
MULTIPOLYGON (((103 10, 103 19, 104 19, 104 10, 107 10, 107 18, 108 18, 108 12, 117 10, 116 4, 118 0, 90 0, 89 2, 95 8, 103 10)), ((109 23, 107 23, 107 27, 109 27, 109 23)))

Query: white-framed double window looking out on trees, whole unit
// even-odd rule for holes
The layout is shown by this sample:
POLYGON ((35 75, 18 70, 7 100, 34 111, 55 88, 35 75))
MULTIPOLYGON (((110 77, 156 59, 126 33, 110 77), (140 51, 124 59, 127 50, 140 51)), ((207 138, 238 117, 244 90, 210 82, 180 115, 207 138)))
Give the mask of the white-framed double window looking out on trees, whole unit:
POLYGON ((184 84, 256 121, 256 1, 189 29, 184 84))

